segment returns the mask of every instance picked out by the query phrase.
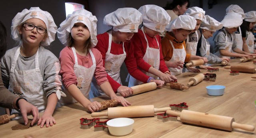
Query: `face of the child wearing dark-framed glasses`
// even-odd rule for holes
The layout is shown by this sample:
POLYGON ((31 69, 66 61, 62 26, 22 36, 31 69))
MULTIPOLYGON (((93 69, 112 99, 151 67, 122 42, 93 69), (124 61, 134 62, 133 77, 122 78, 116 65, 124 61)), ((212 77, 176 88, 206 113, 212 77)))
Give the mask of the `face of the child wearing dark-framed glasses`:
POLYGON ((23 24, 21 26, 21 28, 19 29, 19 33, 20 35, 22 35, 22 44, 29 44, 29 45, 36 45, 39 46, 40 42, 45 40, 45 36, 46 36, 46 32, 44 32, 43 34, 38 33, 38 27, 42 27, 46 29, 46 25, 44 23, 44 21, 38 19, 38 18, 31 18, 26 20, 24 23, 27 24, 23 24), (29 23, 29 24, 28 24, 29 23), (33 27, 33 26, 37 26, 34 27, 32 30, 29 30, 30 28, 26 28, 26 25, 28 27, 33 27))

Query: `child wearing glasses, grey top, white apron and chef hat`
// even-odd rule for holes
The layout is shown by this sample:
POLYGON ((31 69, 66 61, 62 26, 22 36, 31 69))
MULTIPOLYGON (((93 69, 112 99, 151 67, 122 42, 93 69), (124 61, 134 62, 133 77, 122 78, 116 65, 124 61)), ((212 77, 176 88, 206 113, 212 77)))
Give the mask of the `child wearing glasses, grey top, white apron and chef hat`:
MULTIPOLYGON (((39 112, 44 112, 38 121, 41 128, 44 124, 52 126, 56 124, 52 114, 64 93, 61 92, 60 62, 43 46, 54 41, 57 26, 49 12, 31 7, 13 18, 11 30, 12 38, 20 44, 1 59, 3 82, 12 93, 26 98, 39 112)), ((12 114, 17 113, 21 115, 20 110, 12 109, 12 114)))

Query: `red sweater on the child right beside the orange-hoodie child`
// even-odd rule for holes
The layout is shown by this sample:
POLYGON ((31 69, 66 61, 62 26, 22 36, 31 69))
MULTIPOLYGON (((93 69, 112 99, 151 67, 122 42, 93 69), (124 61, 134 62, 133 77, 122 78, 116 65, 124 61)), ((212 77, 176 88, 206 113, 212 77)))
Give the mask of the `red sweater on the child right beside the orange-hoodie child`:
MULTIPOLYGON (((148 45, 150 48, 156 48, 154 46, 157 46, 157 42, 156 39, 158 40, 158 44, 159 44, 159 48, 160 48, 160 66, 159 66, 159 70, 163 73, 165 73, 166 71, 168 71, 168 68, 164 62, 164 57, 162 54, 162 46, 161 46, 161 38, 160 35, 156 36, 156 39, 154 37, 150 37, 148 36, 148 34, 146 34, 146 38, 148 39, 148 45)), ((134 56, 136 58, 136 62, 139 68, 141 68, 142 70, 145 70, 146 72, 148 72, 149 68, 151 67, 150 64, 148 64, 147 62, 145 62, 143 60, 143 56, 146 53, 146 49, 147 49, 147 42, 144 38, 144 34, 142 32, 142 30, 138 30, 138 33, 135 33, 134 36, 131 39, 131 47, 134 48, 134 56)))

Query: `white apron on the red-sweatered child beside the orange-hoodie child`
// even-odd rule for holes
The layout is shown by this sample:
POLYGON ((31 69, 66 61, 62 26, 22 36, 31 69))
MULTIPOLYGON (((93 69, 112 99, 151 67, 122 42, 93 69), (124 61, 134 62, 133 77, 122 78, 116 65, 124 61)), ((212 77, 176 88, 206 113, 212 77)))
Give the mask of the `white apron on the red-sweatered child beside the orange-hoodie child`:
MULTIPOLYGON (((150 64, 153 68, 159 70, 159 66, 160 66, 160 48, 159 48, 159 43, 158 40, 156 39, 156 36, 154 36, 154 38, 156 39, 157 42, 157 46, 158 49, 156 48, 150 48, 148 45, 148 39, 146 38, 146 34, 144 33, 143 27, 141 28, 143 34, 144 34, 144 38, 147 42, 147 49, 146 49, 146 53, 143 56, 143 60, 145 62, 147 62, 148 64, 150 64)), ((141 70, 141 69, 140 69, 141 70)), ((147 76, 153 77, 155 80, 158 80, 158 76, 155 76, 149 72, 146 72, 144 70, 141 70, 144 74, 146 74, 147 76)), ((128 87, 132 87, 132 86, 136 86, 139 84, 143 84, 143 82, 136 80, 134 77, 130 76, 129 78, 129 86, 128 87)))

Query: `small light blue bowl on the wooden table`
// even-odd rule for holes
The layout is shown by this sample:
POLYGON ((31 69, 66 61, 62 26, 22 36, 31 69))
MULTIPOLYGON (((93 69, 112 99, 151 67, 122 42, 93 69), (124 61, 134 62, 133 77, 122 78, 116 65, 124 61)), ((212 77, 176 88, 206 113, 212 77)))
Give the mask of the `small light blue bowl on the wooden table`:
POLYGON ((224 94, 225 86, 222 85, 210 85, 206 86, 207 94, 210 96, 221 96, 224 94))

